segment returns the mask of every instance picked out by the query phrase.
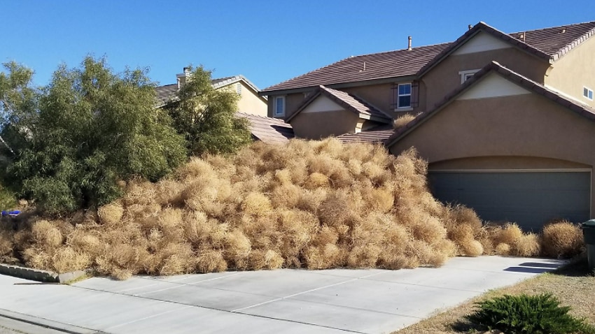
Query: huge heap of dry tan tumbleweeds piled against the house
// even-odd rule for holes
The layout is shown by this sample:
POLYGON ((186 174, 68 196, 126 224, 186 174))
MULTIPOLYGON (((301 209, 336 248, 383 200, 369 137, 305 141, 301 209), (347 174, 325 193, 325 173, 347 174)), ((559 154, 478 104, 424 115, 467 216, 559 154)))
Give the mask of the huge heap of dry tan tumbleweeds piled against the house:
MULTIPOLYGON (((568 223, 547 235, 484 226, 444 206, 414 150, 337 140, 254 143, 230 157, 193 158, 157 183, 72 217, 0 230, 3 261, 58 272, 94 268, 125 279, 274 268, 414 268, 451 256, 554 256, 580 250, 568 223), (556 236, 561 238, 556 239, 556 236), (549 243, 548 245, 545 245, 549 243), (553 249, 553 250, 552 250, 553 249)), ((13 227, 13 226, 11 226, 13 227)))

